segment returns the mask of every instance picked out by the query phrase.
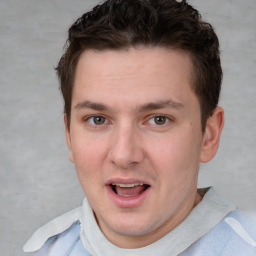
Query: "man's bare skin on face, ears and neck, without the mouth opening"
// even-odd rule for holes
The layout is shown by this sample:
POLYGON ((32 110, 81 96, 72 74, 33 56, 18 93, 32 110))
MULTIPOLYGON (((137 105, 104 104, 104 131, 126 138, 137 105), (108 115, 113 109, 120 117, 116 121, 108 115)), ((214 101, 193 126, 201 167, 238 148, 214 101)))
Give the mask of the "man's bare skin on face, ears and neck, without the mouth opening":
POLYGON ((158 47, 79 59, 70 127, 65 121, 70 160, 102 232, 119 247, 157 241, 201 200, 199 163, 217 151, 223 110, 202 134, 192 72, 188 54, 158 47), (139 201, 119 204, 109 193, 116 181, 150 186, 139 201))

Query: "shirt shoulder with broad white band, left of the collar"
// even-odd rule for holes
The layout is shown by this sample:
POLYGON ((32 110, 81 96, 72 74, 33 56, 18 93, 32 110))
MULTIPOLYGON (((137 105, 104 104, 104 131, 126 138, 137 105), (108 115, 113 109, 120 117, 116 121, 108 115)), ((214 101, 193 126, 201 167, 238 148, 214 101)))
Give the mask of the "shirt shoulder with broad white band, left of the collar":
MULTIPOLYGON (((39 228, 24 245, 24 252, 40 250, 46 252, 57 241, 61 241, 63 250, 74 244, 80 234, 81 207, 67 212, 39 228)), ((48 255, 38 253, 36 255, 48 255)))

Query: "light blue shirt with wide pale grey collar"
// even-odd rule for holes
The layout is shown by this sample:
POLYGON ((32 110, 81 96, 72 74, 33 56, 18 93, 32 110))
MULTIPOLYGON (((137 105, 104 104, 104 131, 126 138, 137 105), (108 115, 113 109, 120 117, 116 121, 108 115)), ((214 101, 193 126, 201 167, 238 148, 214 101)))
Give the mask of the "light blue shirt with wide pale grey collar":
POLYGON ((39 229, 24 250, 33 256, 256 256, 256 217, 234 210, 212 188, 205 193, 179 226, 143 248, 122 249, 111 244, 85 200, 82 208, 39 229))

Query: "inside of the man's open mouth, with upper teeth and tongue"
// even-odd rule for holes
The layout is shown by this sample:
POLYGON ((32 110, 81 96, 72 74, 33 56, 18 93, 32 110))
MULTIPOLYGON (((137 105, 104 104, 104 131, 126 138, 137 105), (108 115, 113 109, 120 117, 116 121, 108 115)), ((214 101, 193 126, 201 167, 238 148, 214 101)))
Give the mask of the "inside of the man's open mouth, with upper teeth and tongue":
POLYGON ((146 191, 150 185, 143 183, 130 183, 130 184, 121 184, 121 183, 111 183, 112 190, 122 197, 134 197, 144 191, 146 191))

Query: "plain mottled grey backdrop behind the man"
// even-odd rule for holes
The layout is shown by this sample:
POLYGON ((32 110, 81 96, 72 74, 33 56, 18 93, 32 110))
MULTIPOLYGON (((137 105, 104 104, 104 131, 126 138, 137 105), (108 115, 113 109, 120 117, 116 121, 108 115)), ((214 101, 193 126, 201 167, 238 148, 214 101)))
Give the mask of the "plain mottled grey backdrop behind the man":
MULTIPOLYGON (((68 27, 98 1, 0 0, 0 250, 22 255, 33 231, 81 204, 53 67, 68 27)), ((256 212, 255 0, 191 0, 220 38, 226 124, 199 185, 256 212)))

